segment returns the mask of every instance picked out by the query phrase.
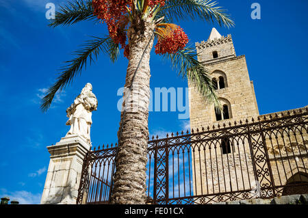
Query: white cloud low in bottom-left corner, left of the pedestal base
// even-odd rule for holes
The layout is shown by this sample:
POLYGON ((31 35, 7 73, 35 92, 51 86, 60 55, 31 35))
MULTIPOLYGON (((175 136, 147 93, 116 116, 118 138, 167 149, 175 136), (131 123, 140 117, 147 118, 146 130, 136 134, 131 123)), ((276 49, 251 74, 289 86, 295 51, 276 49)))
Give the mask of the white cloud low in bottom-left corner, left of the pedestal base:
POLYGON ((0 195, 10 197, 10 201, 17 200, 19 204, 40 204, 40 198, 42 197, 41 193, 34 194, 29 191, 10 192, 6 189, 0 189, 0 195))

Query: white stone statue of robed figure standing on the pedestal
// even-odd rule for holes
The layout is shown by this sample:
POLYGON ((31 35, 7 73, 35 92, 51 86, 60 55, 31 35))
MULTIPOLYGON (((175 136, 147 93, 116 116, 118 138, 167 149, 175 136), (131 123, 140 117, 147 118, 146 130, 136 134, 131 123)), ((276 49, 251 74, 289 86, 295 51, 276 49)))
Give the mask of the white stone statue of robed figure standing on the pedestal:
POLYGON ((66 125, 70 130, 66 134, 84 137, 90 144, 90 127, 92 124, 92 111, 97 110, 97 97, 92 93, 91 83, 87 83, 81 94, 75 98, 74 103, 66 109, 68 121, 66 125))

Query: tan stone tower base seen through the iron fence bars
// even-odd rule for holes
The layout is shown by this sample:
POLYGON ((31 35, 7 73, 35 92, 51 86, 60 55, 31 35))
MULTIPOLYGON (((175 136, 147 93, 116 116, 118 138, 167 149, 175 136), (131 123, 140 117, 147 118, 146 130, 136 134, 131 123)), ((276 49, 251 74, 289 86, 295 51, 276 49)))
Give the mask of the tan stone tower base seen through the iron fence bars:
POLYGON ((248 141, 233 140, 229 154, 222 154, 220 143, 215 146, 214 141, 201 146, 200 155, 192 153, 194 195, 253 189, 257 184, 248 141))

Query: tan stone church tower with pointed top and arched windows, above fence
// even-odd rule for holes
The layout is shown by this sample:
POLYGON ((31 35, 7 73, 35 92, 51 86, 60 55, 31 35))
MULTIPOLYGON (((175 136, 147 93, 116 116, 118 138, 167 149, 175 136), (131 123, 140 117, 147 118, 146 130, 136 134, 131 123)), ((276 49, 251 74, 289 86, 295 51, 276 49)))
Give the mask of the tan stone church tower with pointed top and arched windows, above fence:
POLYGON ((213 28, 207 42, 196 43, 198 60, 209 70, 223 105, 217 113, 214 105, 207 105, 195 87, 189 85, 190 127, 212 126, 226 122, 244 121, 259 115, 253 81, 249 79, 246 58, 237 56, 231 35, 221 36, 213 28))

